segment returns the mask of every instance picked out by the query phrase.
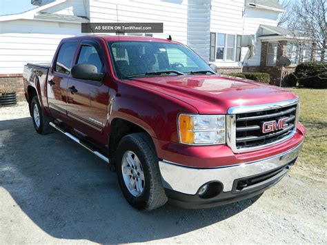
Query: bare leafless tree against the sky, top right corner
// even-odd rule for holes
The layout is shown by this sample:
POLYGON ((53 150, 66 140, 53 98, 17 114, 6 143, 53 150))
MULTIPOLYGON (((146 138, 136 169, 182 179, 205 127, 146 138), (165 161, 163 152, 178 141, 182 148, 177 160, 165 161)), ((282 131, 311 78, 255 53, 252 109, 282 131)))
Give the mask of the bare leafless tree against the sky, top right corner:
POLYGON ((299 0, 293 4, 292 10, 288 29, 292 30, 301 45, 310 45, 319 60, 326 62, 326 0, 299 0), (310 40, 305 41, 299 37, 307 37, 310 40))

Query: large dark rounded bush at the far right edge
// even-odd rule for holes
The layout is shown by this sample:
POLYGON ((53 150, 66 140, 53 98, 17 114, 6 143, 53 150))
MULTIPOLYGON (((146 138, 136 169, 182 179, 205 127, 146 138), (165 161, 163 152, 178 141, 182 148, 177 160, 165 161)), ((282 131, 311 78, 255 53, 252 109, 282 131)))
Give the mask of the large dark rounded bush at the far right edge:
POLYGON ((299 85, 306 88, 327 88, 327 66, 321 62, 300 63, 294 72, 299 85))

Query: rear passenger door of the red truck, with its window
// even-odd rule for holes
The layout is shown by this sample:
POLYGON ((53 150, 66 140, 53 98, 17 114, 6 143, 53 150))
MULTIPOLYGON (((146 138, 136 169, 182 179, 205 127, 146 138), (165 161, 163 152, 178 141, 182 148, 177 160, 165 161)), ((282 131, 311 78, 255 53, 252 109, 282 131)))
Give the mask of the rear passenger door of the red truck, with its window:
POLYGON ((67 114, 67 86, 77 41, 61 43, 57 57, 49 70, 47 93, 52 116, 63 119, 67 114))

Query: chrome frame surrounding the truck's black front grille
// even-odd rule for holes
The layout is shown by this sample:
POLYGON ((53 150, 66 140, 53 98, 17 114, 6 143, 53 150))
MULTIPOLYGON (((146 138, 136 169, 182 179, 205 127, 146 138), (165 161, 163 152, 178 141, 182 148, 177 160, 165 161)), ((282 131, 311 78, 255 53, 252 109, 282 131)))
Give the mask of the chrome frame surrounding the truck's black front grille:
POLYGON ((253 150, 261 150, 264 148, 267 148, 269 146, 273 146, 275 144, 279 144, 283 141, 286 141, 293 137, 295 135, 297 130, 297 120, 298 120, 298 114, 299 114, 299 99, 289 99, 286 101, 279 101, 274 102, 270 104, 259 104, 255 106, 235 106, 228 109, 228 115, 226 115, 226 144, 232 149, 233 153, 247 153, 249 151, 253 150), (277 141, 273 141, 268 144, 264 144, 261 146, 252 146, 252 147, 244 147, 244 148, 237 148, 236 146, 236 115, 235 114, 241 114, 246 112, 256 112, 261 110, 273 110, 275 108, 283 108, 287 106, 293 106, 297 104, 297 110, 296 110, 296 119, 295 119, 295 125, 294 129, 291 131, 289 135, 286 135, 286 137, 279 139, 277 141))

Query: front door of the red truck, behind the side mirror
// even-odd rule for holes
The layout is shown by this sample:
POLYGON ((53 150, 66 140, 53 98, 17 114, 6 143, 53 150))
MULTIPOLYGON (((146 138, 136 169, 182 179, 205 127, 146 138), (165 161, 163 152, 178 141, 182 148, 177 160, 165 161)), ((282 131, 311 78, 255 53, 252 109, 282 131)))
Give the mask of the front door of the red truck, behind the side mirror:
MULTIPOLYGON (((97 67, 97 72, 106 74, 101 45, 94 40, 84 40, 79 45, 75 64, 88 63, 97 67)), ((106 80, 103 80, 106 81, 106 80)), ((101 142, 106 126, 108 85, 101 81, 90 81, 70 77, 68 83, 68 119, 74 128, 101 142)), ((103 143, 103 142, 101 142, 103 143)))

